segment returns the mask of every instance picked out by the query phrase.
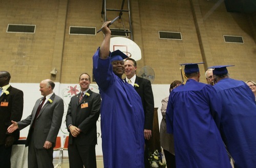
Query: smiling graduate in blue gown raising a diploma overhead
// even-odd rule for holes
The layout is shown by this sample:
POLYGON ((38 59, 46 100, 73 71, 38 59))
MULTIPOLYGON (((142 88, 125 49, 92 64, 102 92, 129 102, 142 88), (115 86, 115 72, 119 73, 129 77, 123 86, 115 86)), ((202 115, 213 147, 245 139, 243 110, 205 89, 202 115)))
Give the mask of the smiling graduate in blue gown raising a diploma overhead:
POLYGON ((122 52, 110 53, 110 21, 102 26, 104 39, 93 56, 93 75, 102 98, 101 134, 104 168, 144 167, 144 112, 139 94, 122 80, 122 52))

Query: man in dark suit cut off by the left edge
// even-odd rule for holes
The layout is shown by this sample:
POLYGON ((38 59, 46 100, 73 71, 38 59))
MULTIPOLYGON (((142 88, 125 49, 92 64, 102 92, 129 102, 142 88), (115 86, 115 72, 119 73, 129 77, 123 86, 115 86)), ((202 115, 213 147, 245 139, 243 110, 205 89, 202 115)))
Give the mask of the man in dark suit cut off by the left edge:
POLYGON ((19 131, 8 133, 11 121, 20 121, 23 113, 23 91, 12 87, 8 71, 0 71, 0 166, 11 167, 12 144, 19 138, 19 131))

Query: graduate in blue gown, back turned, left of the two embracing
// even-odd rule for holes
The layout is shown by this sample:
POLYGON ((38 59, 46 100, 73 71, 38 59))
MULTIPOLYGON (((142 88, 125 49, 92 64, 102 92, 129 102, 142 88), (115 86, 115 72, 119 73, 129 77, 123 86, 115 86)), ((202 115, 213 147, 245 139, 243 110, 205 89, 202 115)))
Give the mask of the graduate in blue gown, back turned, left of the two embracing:
POLYGON ((185 64, 184 71, 188 80, 172 90, 166 110, 167 133, 174 134, 176 167, 231 167, 216 125, 221 110, 217 93, 199 82, 198 64, 185 64))

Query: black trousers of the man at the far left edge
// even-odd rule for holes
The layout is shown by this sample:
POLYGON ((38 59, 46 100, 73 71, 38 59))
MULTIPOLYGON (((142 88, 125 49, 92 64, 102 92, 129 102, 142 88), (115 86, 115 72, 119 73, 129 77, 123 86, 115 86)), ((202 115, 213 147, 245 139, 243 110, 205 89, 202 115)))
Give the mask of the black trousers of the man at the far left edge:
POLYGON ((11 153, 12 153, 12 146, 6 148, 5 144, 0 145, 0 167, 2 168, 11 167, 11 153))

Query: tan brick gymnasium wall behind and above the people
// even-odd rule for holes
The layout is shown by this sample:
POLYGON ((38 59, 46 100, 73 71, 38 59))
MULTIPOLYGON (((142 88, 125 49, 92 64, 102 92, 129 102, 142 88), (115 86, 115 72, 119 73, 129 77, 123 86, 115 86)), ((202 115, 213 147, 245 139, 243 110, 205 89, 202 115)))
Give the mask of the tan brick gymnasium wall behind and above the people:
MULTIPOLYGON (((119 9, 122 1, 107 0, 119 9)), ((127 1, 125 1, 127 2, 127 1)), ((140 46, 143 66, 156 74, 154 84, 181 80, 179 64, 200 65, 201 81, 207 66, 234 64, 230 77, 256 81, 255 15, 228 13, 224 2, 205 0, 131 0, 133 38, 140 46), (181 32, 182 40, 159 39, 158 31, 181 32), (223 35, 242 36, 244 44, 225 43, 223 35)), ((38 83, 51 78, 60 83, 78 83, 78 76, 92 76, 92 55, 103 39, 96 35, 69 35, 70 26, 101 28, 102 1, 0 0, 0 70, 11 73, 11 82, 38 83), (8 23, 36 25, 35 34, 6 33, 8 23), (56 76, 50 71, 56 67, 56 76)), ((126 6, 125 6, 126 8, 126 6)), ((124 8, 124 9, 125 9, 124 8)), ((108 13, 108 20, 118 12, 108 13)), ((123 14, 126 28, 127 14, 123 14)), ((112 28, 121 27, 115 23, 112 28)))

